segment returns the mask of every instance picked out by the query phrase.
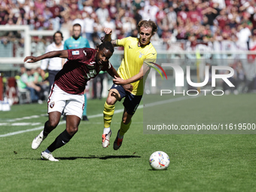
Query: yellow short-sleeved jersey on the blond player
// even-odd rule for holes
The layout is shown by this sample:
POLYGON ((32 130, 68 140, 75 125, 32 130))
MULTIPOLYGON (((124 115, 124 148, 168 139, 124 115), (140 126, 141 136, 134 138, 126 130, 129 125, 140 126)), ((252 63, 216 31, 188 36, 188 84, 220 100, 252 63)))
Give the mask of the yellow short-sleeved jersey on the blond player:
MULTIPOLYGON (((157 60, 157 51, 155 50, 154 46, 149 43, 144 47, 140 47, 138 45, 139 38, 128 37, 117 39, 116 43, 117 46, 124 47, 123 60, 117 70, 120 78, 128 79, 134 75, 137 75, 145 60, 149 59, 151 62, 156 62, 157 60)), ((142 96, 144 87, 143 78, 132 83, 132 85, 132 94, 136 96, 142 96)))

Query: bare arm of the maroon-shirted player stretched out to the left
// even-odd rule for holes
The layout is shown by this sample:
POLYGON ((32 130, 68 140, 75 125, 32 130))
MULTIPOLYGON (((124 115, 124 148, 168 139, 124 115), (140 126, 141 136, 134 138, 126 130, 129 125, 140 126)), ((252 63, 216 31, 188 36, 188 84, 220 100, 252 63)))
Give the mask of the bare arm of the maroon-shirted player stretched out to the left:
POLYGON ((26 56, 24 62, 38 62, 41 59, 53 58, 53 57, 61 57, 68 58, 68 50, 53 50, 48 53, 44 53, 41 56, 26 56))

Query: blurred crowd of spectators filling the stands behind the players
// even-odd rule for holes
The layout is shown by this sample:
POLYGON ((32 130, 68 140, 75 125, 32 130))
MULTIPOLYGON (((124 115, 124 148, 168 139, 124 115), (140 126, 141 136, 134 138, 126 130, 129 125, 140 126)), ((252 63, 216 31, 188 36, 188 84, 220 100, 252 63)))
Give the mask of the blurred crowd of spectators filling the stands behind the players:
POLYGON ((105 26, 113 29, 113 39, 136 36, 139 20, 151 18, 166 44, 190 38, 231 40, 239 50, 254 50, 255 38, 248 41, 256 35, 255 5, 254 0, 3 0, 0 25, 57 31, 80 23, 83 35, 97 42, 105 26))

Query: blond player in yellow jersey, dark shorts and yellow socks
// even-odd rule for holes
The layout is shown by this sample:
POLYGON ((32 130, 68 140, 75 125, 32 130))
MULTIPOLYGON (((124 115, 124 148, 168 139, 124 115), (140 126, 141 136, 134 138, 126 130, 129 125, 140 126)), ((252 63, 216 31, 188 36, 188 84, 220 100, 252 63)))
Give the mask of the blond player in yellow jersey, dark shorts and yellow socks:
POLYGON ((114 104, 125 97, 123 101, 124 111, 120 130, 114 141, 113 148, 117 150, 123 142, 123 135, 130 128, 133 114, 139 106, 143 95, 143 78, 146 78, 150 67, 147 62, 155 62, 157 51, 151 44, 151 37, 157 32, 157 25, 151 20, 142 20, 137 26, 139 38, 127 37, 123 39, 111 40, 112 30, 105 28, 104 41, 111 41, 114 47, 124 47, 124 56, 119 69, 120 78, 115 77, 113 86, 109 90, 108 98, 104 105, 104 130, 102 134, 102 147, 107 148, 111 136, 111 120, 114 114, 114 104), (122 84, 132 84, 133 91, 123 89, 122 84))

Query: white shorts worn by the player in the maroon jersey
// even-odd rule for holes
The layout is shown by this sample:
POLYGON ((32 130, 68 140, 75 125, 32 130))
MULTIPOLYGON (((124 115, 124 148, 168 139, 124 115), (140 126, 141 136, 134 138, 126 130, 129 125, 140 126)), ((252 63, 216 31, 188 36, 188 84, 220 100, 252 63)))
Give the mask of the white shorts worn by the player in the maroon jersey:
POLYGON ((53 84, 48 97, 48 113, 59 111, 66 115, 82 117, 84 111, 84 95, 66 93, 56 84, 53 84))

